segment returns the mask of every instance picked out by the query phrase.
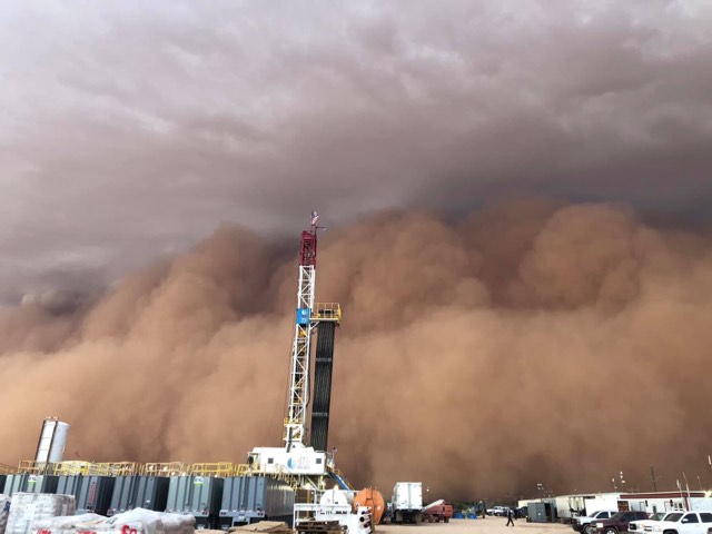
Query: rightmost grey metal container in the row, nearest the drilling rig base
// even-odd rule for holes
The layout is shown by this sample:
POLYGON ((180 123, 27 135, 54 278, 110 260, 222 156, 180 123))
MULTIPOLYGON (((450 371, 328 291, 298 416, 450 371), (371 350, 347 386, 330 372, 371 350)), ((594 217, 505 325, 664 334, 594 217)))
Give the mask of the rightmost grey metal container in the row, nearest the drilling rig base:
POLYGON ((234 476, 225 479, 219 527, 259 521, 284 521, 291 525, 294 490, 289 484, 264 476, 234 476))

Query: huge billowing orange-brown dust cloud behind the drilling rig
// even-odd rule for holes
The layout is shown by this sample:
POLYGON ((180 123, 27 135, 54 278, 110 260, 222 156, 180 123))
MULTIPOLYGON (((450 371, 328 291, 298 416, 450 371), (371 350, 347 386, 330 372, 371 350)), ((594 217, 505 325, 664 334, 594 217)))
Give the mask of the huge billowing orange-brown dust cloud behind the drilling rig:
MULTIPOLYGON (((295 231, 295 235, 297 233, 295 231)), ((446 222, 385 212, 320 235, 339 301, 329 446, 356 485, 459 500, 711 485, 712 244, 624 207, 522 201, 446 222)), ((294 248, 219 228, 67 307, 0 324, 0 462, 40 422, 67 459, 244 462, 278 446, 294 248)))

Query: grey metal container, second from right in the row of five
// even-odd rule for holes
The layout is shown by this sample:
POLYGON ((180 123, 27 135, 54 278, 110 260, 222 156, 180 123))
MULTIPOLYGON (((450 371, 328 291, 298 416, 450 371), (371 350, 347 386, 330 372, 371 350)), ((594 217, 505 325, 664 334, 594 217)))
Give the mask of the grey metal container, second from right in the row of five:
POLYGON ((171 476, 166 512, 192 515, 196 528, 217 528, 222 483, 210 476, 171 476))

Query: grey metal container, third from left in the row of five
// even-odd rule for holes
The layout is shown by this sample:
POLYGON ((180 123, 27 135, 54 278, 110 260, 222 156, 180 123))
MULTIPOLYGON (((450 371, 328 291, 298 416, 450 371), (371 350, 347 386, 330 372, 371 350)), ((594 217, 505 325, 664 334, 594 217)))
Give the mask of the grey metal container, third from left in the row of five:
POLYGON ((107 515, 121 514, 134 508, 164 512, 169 482, 167 476, 117 476, 107 515))

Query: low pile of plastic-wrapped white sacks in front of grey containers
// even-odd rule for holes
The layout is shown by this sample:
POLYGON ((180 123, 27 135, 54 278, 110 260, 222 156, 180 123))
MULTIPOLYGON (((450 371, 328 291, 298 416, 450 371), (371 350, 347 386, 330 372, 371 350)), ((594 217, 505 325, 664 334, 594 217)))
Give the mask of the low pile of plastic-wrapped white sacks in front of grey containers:
POLYGON ((97 514, 36 521, 26 534, 194 534, 192 515, 135 508, 112 517, 97 514))

